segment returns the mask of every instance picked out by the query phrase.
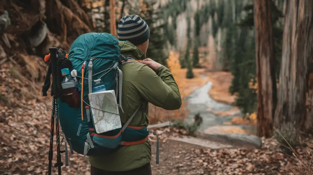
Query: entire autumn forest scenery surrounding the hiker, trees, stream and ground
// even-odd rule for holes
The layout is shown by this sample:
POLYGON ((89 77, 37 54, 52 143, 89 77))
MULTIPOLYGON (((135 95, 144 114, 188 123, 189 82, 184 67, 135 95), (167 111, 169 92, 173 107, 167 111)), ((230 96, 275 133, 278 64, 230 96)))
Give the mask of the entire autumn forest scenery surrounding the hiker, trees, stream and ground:
MULTIPOLYGON (((136 14, 149 25, 146 57, 171 71, 182 98, 173 111, 149 103, 153 175, 312 175, 312 12, 310 0, 0 0, 0 174, 48 174, 49 48, 117 37, 136 14)), ((62 174, 90 175, 88 156, 68 161, 62 174)))

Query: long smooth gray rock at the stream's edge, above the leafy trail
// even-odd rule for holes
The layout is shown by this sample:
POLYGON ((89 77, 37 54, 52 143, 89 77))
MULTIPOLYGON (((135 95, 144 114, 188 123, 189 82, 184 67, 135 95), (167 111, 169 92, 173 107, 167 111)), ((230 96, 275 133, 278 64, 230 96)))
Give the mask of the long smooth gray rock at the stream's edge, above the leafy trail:
POLYGON ((197 136, 201 139, 207 139, 217 141, 221 143, 231 144, 233 146, 241 146, 252 149, 261 149, 262 140, 256 135, 245 135, 245 134, 200 134, 197 136))

